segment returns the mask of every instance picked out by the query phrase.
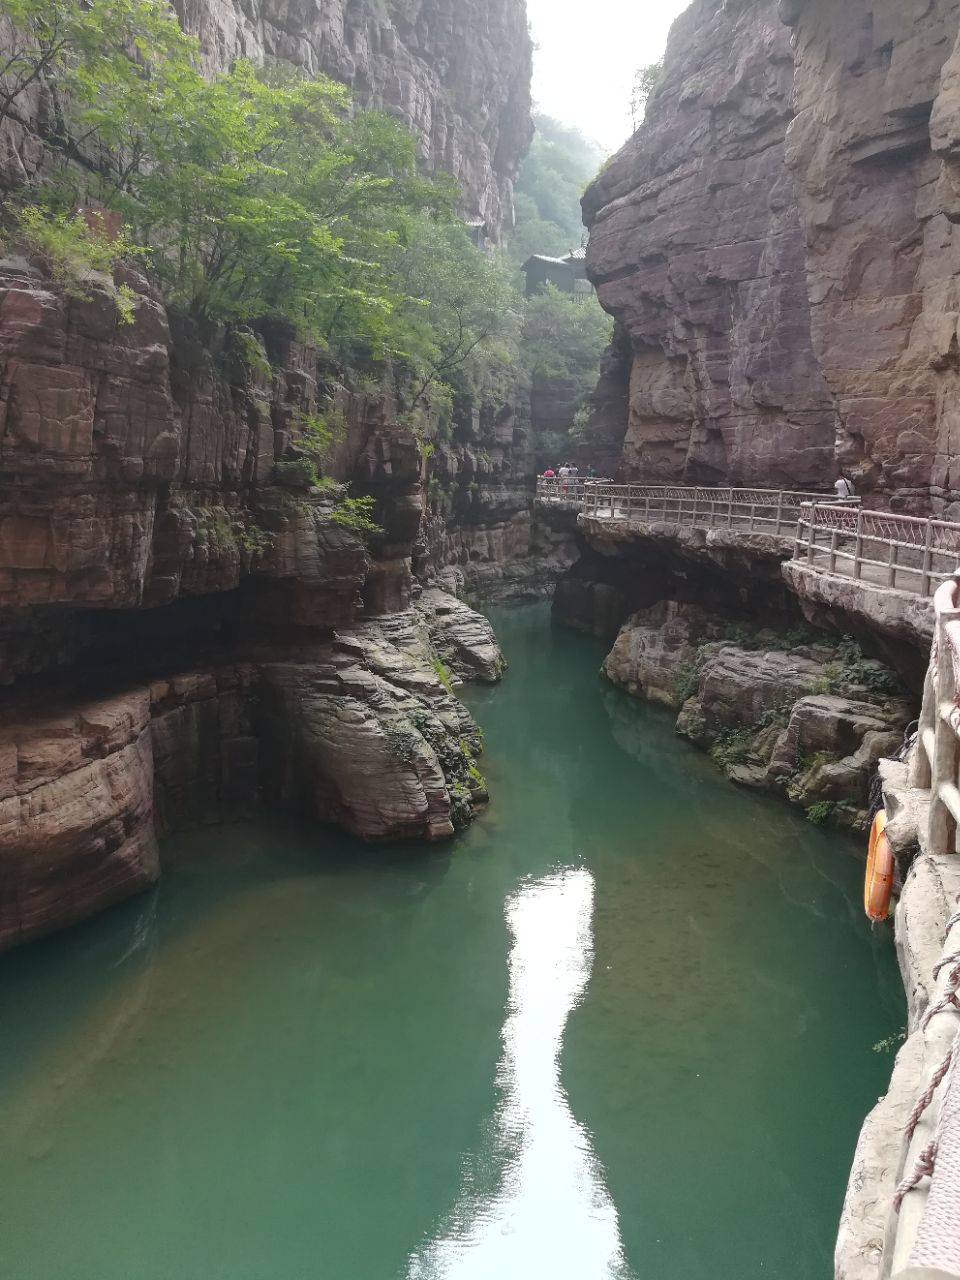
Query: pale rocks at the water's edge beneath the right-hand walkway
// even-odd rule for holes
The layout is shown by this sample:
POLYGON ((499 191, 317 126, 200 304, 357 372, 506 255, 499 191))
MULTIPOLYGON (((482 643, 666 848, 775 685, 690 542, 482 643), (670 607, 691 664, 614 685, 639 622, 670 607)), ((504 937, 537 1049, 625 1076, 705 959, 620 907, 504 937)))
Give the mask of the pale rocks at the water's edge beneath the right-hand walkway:
POLYGON ((845 667, 833 646, 776 632, 760 631, 748 650, 721 639, 731 630, 696 605, 664 602, 625 623, 603 673, 678 708, 677 732, 710 749, 732 781, 863 826, 877 764, 911 716, 896 680, 878 662, 845 667))

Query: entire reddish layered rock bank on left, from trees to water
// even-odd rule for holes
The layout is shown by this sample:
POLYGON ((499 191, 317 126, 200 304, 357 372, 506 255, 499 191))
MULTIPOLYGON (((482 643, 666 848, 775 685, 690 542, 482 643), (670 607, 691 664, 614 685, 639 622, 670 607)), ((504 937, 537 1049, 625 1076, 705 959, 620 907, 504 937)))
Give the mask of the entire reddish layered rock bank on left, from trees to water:
POLYGON ((0 270, 3 945, 152 883, 188 823, 262 805, 435 840, 485 799, 451 687, 502 658, 458 600, 413 607, 417 435, 308 348, 265 334, 268 380, 123 280, 125 328, 109 280, 0 270), (321 404, 366 540, 301 465, 321 404))

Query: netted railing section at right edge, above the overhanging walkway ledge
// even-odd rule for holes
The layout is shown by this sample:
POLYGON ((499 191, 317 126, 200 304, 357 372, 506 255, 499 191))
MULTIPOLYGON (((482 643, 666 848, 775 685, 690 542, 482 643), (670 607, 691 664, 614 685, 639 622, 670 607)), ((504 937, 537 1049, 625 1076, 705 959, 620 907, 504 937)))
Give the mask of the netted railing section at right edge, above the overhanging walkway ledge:
POLYGON ((929 596, 960 559, 960 525, 863 511, 849 502, 804 503, 794 559, 822 573, 929 596))

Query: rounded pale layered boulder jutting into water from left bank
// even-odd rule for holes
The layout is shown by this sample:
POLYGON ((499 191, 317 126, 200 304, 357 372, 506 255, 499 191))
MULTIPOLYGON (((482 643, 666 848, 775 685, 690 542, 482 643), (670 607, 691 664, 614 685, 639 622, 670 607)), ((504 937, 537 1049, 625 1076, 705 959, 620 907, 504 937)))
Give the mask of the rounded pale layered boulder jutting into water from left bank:
MULTIPOLYGON (((460 613, 475 669, 502 666, 483 618, 456 600, 433 608, 460 613)), ((461 652, 466 663, 463 631, 461 652)), ((266 797, 367 840, 452 836, 486 791, 479 731, 447 678, 413 611, 338 632, 326 662, 265 664, 266 797)))

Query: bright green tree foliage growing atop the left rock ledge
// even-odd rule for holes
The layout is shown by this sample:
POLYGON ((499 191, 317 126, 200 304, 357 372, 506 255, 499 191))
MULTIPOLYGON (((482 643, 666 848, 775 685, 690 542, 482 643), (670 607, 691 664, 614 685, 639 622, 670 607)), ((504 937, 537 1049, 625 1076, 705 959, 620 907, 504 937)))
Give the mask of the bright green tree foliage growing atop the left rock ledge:
POLYGON ((201 324, 280 317, 347 361, 407 362, 424 392, 500 358, 516 314, 503 271, 456 225, 454 184, 420 175, 401 123, 285 65, 205 78, 164 0, 0 0, 0 15, 23 33, 8 106, 42 84, 59 122, 59 165, 22 193, 31 247, 77 230, 83 250, 74 210, 115 210, 166 301, 201 324))

